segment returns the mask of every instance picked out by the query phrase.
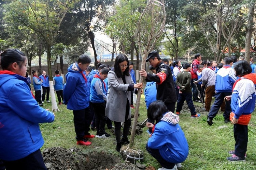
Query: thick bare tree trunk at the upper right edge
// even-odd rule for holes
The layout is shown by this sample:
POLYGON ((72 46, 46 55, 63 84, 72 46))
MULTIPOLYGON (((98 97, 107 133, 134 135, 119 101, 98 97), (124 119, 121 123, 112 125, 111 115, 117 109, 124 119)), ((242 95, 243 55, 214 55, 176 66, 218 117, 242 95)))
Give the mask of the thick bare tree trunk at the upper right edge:
POLYGON ((250 54, 251 54, 251 39, 252 39, 252 32, 253 32, 253 25, 254 25, 253 23, 254 6, 255 6, 255 2, 252 2, 249 7, 246 38, 245 38, 244 60, 246 60, 248 63, 250 63, 250 54))

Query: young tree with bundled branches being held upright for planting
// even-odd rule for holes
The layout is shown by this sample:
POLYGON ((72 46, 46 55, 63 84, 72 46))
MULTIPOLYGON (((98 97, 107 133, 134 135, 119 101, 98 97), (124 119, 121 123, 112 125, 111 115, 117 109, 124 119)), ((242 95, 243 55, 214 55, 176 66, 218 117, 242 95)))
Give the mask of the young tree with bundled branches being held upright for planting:
MULTIPOLYGON (((146 57, 153 50, 156 40, 161 36, 165 27, 165 5, 163 0, 148 1, 145 10, 142 12, 136 24, 136 37, 138 38, 138 45, 140 54, 143 55, 141 61, 141 69, 145 68, 146 57), (142 44, 143 43, 143 44, 142 44), (143 51, 142 51, 143 45, 143 51)), ((143 82, 143 77, 140 76, 140 83, 143 82)), ((138 90, 135 112, 132 122, 130 148, 134 146, 134 136, 139 115, 140 99, 142 88, 138 90)))

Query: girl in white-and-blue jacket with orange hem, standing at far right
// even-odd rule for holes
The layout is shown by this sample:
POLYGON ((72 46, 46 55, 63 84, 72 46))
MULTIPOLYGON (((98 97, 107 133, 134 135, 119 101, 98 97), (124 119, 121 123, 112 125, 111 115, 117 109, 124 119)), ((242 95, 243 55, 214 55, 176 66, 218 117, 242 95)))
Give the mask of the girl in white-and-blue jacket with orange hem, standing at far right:
POLYGON ((234 124, 234 139, 236 141, 234 151, 228 153, 232 156, 227 157, 229 161, 245 161, 245 152, 248 143, 248 123, 251 113, 255 107, 255 84, 256 74, 251 73, 252 68, 245 60, 238 61, 234 66, 236 76, 239 79, 233 85, 231 96, 226 96, 227 101, 231 100, 230 121, 234 124))

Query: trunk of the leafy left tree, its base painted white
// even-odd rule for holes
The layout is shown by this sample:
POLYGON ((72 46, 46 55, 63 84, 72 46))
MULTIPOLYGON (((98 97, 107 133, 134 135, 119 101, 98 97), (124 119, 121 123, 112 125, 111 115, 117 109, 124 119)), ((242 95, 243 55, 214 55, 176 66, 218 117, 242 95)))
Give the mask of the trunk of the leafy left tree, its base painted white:
POLYGON ((52 112, 59 111, 56 97, 54 94, 53 88, 53 74, 52 74, 52 61, 51 61, 51 45, 46 44, 47 46, 47 67, 48 67, 48 75, 49 75, 49 84, 50 84, 50 95, 51 95, 51 102, 52 102, 52 112))

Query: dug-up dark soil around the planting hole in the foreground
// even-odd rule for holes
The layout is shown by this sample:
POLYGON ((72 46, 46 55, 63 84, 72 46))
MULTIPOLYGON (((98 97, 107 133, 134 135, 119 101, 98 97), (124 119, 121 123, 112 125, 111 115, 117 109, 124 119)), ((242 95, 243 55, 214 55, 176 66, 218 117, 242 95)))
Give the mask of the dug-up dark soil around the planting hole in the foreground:
POLYGON ((42 152, 44 163, 49 170, 140 170, 145 166, 121 163, 119 157, 106 152, 83 153, 77 148, 47 148, 42 152))

